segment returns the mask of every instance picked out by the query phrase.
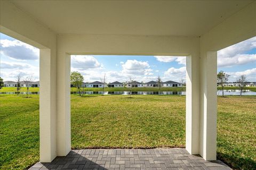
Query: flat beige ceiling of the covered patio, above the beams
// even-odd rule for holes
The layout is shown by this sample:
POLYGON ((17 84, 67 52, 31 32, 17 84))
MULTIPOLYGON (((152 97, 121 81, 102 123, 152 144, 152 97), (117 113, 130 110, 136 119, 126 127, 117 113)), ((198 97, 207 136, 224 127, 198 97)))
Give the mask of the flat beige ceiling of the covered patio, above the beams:
POLYGON ((57 33, 200 36, 252 1, 12 1, 57 33))

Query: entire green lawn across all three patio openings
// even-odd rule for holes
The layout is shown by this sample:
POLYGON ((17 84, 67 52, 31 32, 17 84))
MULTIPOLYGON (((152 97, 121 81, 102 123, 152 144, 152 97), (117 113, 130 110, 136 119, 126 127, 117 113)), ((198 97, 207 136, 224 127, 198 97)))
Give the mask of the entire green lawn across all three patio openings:
MULTIPOLYGON (((0 169, 39 160, 39 96, 0 95, 0 169)), ((256 97, 218 97, 218 157, 256 168, 256 97)), ((71 95, 72 148, 185 146, 185 96, 71 95)))

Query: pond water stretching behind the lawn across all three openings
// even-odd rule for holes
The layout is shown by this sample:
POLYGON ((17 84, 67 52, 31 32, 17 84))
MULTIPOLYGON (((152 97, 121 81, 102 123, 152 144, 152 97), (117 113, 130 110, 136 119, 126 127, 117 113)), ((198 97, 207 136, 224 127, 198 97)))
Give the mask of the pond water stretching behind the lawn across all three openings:
MULTIPOLYGON (((103 91, 84 91, 84 95, 102 95, 103 91)), ((7 91, 0 94, 14 95, 17 92, 7 91)), ((20 92, 21 95, 26 95, 26 92, 20 92)), ((29 92, 30 95, 39 95, 38 91, 29 92)), ((71 91, 70 94, 78 94, 78 91, 71 91)), ((130 95, 130 91, 104 91, 104 95, 130 95)), ((186 95, 186 91, 132 91, 132 95, 186 95)), ((221 96, 222 91, 218 90, 217 95, 221 96)), ((224 90, 224 95, 240 95, 240 90, 224 90)), ((243 96, 256 95, 255 91, 243 90, 243 96)))

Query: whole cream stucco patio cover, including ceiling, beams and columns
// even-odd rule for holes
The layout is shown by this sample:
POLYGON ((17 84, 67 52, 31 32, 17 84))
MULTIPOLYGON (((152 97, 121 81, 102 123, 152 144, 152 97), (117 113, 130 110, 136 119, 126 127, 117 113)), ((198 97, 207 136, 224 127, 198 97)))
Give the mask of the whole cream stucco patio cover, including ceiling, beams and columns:
POLYGON ((256 2, 1 1, 0 29, 40 49, 41 162, 71 149, 72 54, 187 56, 186 149, 215 160, 217 51, 256 36, 256 2))

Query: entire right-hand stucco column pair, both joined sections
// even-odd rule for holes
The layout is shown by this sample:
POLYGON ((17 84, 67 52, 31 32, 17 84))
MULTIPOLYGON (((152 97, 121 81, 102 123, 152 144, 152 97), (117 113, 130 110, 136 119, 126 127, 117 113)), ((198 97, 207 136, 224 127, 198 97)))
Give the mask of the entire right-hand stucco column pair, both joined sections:
POLYGON ((217 52, 187 56, 186 149, 216 160, 217 52))

